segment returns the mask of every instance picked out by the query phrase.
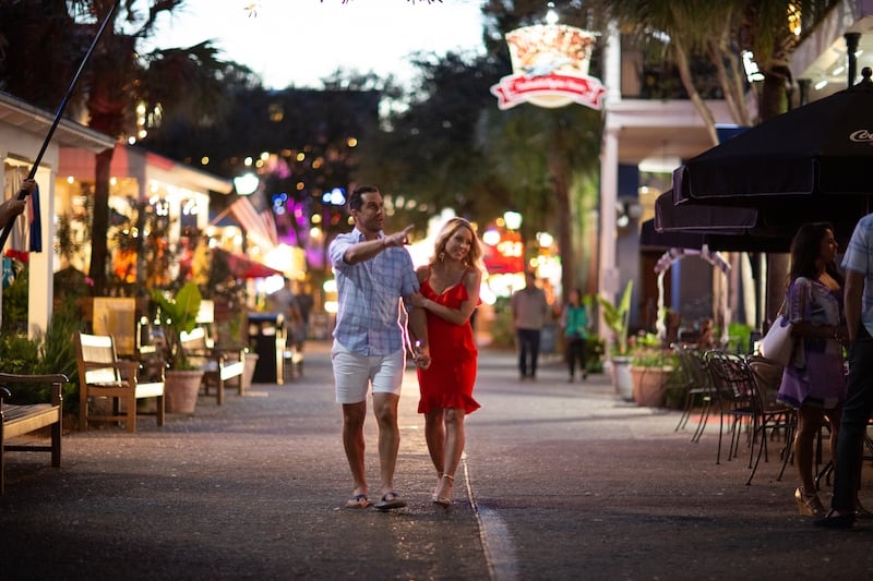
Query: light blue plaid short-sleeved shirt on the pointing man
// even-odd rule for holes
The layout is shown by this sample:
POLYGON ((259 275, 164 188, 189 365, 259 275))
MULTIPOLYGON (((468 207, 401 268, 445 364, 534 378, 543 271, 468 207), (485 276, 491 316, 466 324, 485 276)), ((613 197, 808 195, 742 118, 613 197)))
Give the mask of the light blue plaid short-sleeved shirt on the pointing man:
POLYGON ((363 241, 355 228, 328 249, 339 296, 334 339, 352 353, 388 355, 403 348, 400 298, 418 292, 418 277, 406 249, 385 249, 369 261, 347 264, 346 250, 363 241))

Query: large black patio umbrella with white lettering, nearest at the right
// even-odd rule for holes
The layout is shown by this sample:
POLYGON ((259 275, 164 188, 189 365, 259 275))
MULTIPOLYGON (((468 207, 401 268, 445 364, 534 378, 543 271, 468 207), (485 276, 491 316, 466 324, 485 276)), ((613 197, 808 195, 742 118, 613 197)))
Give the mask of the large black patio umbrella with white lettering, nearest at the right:
MULTIPOLYGON (((774 237, 793 234, 811 220, 851 230, 873 209, 871 74, 864 68, 863 80, 854 86, 687 160, 673 172, 677 205, 689 206, 689 211, 711 204, 754 208, 754 229, 774 237)), ((729 215, 717 218, 722 228, 732 225, 729 215)))

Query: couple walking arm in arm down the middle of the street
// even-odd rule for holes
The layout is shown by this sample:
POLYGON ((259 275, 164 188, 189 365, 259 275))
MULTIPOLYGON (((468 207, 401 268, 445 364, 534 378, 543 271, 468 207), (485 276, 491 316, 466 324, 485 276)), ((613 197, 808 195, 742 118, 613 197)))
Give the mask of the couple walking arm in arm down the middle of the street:
POLYGON ((424 437, 436 469, 432 500, 447 507, 464 451, 464 417, 479 408, 473 399, 477 349, 469 319, 479 304, 482 250, 470 223, 452 218, 436 237, 430 263, 415 269, 403 247, 411 226, 383 232, 384 207, 376 187, 357 187, 348 204, 355 228, 330 246, 339 296, 331 359, 354 481, 346 507, 372 504, 363 437, 371 385, 381 480, 374 506, 406 506, 394 488, 400 444, 397 404, 406 365, 400 299, 409 314, 408 344, 421 392, 418 411, 424 414, 424 437))

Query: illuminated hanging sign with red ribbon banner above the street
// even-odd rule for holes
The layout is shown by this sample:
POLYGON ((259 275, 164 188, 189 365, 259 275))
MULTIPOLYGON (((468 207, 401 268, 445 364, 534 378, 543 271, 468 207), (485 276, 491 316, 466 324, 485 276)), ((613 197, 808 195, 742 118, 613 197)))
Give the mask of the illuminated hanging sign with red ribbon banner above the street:
POLYGON ((513 74, 491 87, 498 107, 522 102, 557 108, 572 102, 600 109, 606 88, 588 76, 596 35, 563 24, 538 24, 506 33, 513 74))

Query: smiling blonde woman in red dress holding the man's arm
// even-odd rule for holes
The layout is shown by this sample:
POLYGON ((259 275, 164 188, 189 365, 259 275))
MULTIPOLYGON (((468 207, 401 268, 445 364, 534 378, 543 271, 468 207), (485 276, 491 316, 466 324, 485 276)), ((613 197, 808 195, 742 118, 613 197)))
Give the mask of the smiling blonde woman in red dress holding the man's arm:
POLYGON ((431 364, 418 370, 424 414, 424 439, 436 468, 433 501, 452 504, 455 470, 464 451, 464 417, 479 404, 473 399, 478 350, 470 315, 479 305, 482 247, 470 222, 452 218, 434 242, 433 256, 417 270, 421 292, 414 304, 427 311, 431 364))

